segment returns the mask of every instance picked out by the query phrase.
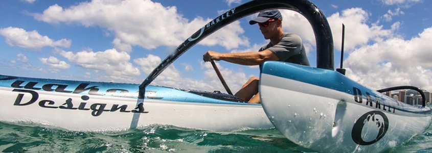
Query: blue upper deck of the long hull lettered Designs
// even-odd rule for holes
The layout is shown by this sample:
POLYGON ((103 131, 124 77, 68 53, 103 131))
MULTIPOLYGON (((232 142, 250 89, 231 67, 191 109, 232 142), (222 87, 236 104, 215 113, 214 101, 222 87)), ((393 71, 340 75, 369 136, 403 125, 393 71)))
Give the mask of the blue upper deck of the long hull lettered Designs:
MULTIPOLYGON (((138 86, 138 84, 126 83, 67 81, 0 75, 0 87, 70 94, 138 98, 138 86)), ((261 106, 260 104, 236 103, 232 101, 214 99, 161 86, 148 86, 146 88, 146 98, 191 103, 261 106)))

